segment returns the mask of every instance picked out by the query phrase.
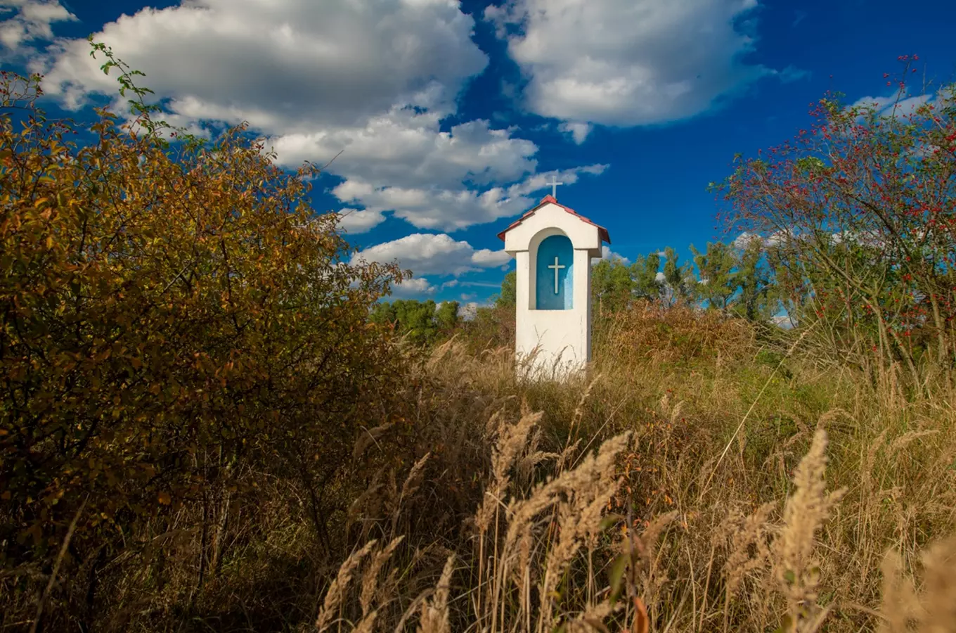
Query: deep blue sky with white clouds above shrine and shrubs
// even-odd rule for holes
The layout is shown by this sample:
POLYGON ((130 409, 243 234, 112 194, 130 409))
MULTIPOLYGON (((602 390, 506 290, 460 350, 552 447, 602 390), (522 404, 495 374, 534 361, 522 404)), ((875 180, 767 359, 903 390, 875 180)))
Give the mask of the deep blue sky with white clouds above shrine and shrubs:
POLYGON ((956 78, 950 0, 0 0, 0 20, 3 67, 44 73, 51 113, 116 96, 93 33, 172 123, 249 120, 290 167, 342 151, 316 210, 415 271, 397 296, 463 303, 497 291, 496 233, 552 176, 611 251, 686 260, 722 237, 707 183, 828 89, 885 97, 898 55, 956 78))

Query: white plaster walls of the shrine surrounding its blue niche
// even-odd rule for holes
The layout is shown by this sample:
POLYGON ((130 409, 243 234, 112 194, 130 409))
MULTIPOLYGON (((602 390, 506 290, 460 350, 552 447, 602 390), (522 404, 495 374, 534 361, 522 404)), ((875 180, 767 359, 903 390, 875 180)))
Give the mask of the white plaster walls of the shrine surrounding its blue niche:
POLYGON ((515 355, 534 378, 561 379, 591 360, 591 258, 600 256, 597 227, 561 207, 546 205, 505 235, 505 250, 516 264, 515 355), (574 308, 532 310, 537 246, 550 235, 571 240, 574 308))

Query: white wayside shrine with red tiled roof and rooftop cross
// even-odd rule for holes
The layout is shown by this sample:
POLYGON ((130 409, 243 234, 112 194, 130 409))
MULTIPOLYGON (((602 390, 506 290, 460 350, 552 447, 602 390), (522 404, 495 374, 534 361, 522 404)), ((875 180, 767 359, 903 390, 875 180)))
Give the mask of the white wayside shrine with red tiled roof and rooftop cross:
POLYGON ((607 229, 549 195, 498 237, 516 260, 518 366, 546 379, 581 371, 591 360, 591 259, 611 243, 607 229))

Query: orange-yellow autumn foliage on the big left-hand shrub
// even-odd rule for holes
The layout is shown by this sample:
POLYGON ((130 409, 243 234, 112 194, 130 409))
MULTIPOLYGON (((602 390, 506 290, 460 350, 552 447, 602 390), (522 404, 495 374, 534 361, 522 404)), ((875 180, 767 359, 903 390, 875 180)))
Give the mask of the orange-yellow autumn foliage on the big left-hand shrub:
POLYGON ((22 325, 0 331, 0 364, 13 389, 42 394, 29 411, 0 404, 11 416, 0 437, 6 450, 31 425, 63 436, 5 452, 0 495, 29 508, 67 482, 44 538, 74 492, 91 494, 83 521, 124 504, 149 512, 200 485, 191 477, 210 447, 331 437, 325 394, 355 398, 355 384, 392 368, 365 323, 374 275, 335 268, 345 245, 333 223, 292 229, 312 215, 300 184, 240 138, 174 159, 110 126, 78 151, 40 128, 32 145, 0 130, 0 162, 29 172, 3 174, 0 192, 13 209, 0 219, 0 286, 22 325), (181 459, 194 444, 198 457, 181 459), (40 463, 35 483, 11 475, 40 463), (144 482, 161 465, 157 492, 144 482))

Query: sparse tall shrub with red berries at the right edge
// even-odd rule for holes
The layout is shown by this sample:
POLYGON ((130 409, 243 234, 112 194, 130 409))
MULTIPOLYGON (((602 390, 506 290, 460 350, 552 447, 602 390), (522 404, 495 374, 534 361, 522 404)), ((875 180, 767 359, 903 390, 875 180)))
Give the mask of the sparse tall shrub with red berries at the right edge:
POLYGON ((883 381, 898 362, 911 390, 956 361, 956 86, 918 85, 917 61, 900 57, 889 103, 828 94, 793 141, 738 156, 715 187, 728 229, 768 245, 778 295, 816 323, 820 353, 883 381))

